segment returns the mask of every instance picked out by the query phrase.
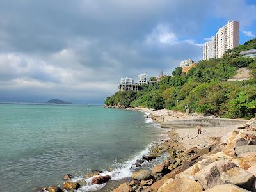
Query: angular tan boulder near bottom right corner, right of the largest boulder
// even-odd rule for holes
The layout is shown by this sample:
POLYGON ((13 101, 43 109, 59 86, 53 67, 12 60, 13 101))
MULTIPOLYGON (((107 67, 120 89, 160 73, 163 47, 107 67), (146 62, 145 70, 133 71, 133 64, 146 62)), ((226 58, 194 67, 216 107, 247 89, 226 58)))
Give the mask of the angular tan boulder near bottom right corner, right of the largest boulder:
POLYGON ((254 178, 252 173, 246 172, 242 168, 234 167, 227 170, 227 172, 223 172, 220 179, 224 184, 234 184, 241 186, 241 188, 250 189, 254 178))

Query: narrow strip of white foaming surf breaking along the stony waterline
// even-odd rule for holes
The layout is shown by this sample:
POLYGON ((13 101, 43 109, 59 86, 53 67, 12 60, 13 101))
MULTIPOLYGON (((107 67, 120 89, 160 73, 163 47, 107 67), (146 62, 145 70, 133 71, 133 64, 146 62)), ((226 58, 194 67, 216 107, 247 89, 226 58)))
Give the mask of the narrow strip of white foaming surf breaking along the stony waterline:
MULTIPOLYGON (((140 111, 140 112, 142 112, 142 111, 140 111)), ((146 113, 144 113, 143 116, 144 116, 143 120, 146 122, 147 121, 146 113)), ((146 122, 146 123, 154 124, 155 122, 150 121, 150 122, 146 122)), ((164 131, 164 129, 161 129, 160 125, 157 127, 156 127, 156 125, 148 125, 148 126, 152 126, 152 127, 150 127, 150 129, 159 129, 157 131, 158 132, 157 138, 156 138, 156 136, 154 136, 154 138, 153 138, 154 140, 150 141, 150 143, 148 143, 148 145, 145 148, 143 148, 143 150, 140 150, 134 154, 129 154, 129 159, 127 159, 123 163, 121 163, 119 167, 114 168, 113 170, 102 170, 103 172, 101 172, 101 170, 100 170, 99 173, 92 171, 92 173, 85 174, 85 175, 89 176, 88 178, 85 178, 84 175, 75 176, 75 177, 72 176, 72 177, 68 178, 67 181, 65 181, 66 179, 65 180, 63 179, 63 184, 62 184, 62 182, 60 182, 60 183, 58 183, 58 185, 56 187, 64 190, 65 182, 71 182, 71 183, 78 182, 80 185, 80 188, 77 188, 77 192, 78 191, 81 191, 81 192, 84 192, 84 191, 109 191, 109 189, 111 189, 111 190, 115 189, 120 184, 120 182, 131 180, 132 172, 136 172, 136 170, 138 170, 142 167, 143 168, 145 168, 145 167, 152 168, 153 167, 152 161, 140 163, 141 167, 138 166, 138 163, 136 161, 142 159, 143 156, 148 156, 148 154, 151 154, 152 148, 157 148, 158 143, 163 142, 161 140, 163 137, 165 138, 167 136, 167 134, 166 134, 167 131, 164 131), (163 135, 161 136, 161 134, 164 134, 164 136, 163 135), (129 172, 129 175, 127 175, 127 173, 124 173, 124 175, 127 175, 127 177, 120 177, 120 179, 116 179, 116 177, 119 177, 118 175, 122 175, 123 172, 129 172), (108 180, 108 182, 103 182, 102 184, 92 185, 93 178, 102 177, 102 176, 104 177, 106 175, 111 176, 111 179, 108 180)), ((158 161, 158 159, 154 159, 154 161, 157 161, 155 164, 161 163, 160 161, 158 161)), ((66 175, 61 175, 61 176, 65 177, 66 175)), ((47 188, 49 188, 49 187, 51 187, 51 186, 43 187, 39 190, 47 192, 48 191, 47 188)), ((36 191, 38 191, 38 190, 36 190, 36 191)))

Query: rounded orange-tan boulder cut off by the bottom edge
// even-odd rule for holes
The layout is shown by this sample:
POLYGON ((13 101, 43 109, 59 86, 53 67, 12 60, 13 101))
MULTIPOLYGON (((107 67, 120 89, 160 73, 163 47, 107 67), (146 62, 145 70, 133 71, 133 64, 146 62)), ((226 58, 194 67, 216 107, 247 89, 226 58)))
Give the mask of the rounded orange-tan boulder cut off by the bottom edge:
POLYGON ((176 179, 163 184, 157 192, 199 192, 203 191, 203 187, 199 182, 186 178, 176 179))

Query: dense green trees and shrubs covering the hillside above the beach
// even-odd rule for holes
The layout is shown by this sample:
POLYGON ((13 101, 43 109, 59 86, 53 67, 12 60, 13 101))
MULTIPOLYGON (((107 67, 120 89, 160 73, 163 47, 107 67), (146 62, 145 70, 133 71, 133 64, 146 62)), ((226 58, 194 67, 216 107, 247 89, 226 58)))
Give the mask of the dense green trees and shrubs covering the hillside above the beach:
POLYGON ((188 73, 177 67, 172 76, 140 87, 138 92, 117 92, 106 105, 142 106, 216 115, 223 118, 252 118, 256 115, 256 58, 239 52, 256 49, 256 39, 239 45, 220 59, 200 61, 188 73), (239 67, 250 69, 249 81, 227 81, 239 67))

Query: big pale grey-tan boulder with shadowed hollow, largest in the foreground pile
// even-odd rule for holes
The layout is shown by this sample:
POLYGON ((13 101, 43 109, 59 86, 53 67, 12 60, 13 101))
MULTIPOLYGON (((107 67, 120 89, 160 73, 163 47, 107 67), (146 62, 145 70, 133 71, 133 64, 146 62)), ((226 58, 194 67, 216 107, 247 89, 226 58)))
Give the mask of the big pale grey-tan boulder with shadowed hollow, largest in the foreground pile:
POLYGON ((197 172, 194 177, 202 184, 204 189, 209 189, 214 185, 223 184, 223 181, 220 180, 221 174, 236 166, 230 160, 215 161, 197 172))

